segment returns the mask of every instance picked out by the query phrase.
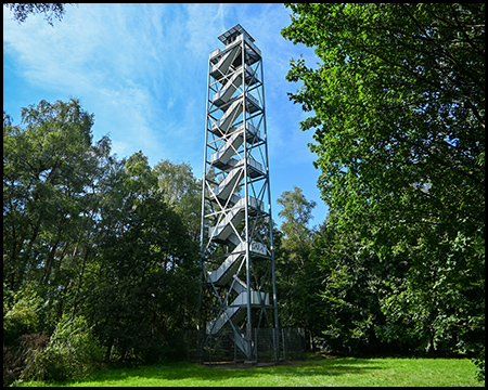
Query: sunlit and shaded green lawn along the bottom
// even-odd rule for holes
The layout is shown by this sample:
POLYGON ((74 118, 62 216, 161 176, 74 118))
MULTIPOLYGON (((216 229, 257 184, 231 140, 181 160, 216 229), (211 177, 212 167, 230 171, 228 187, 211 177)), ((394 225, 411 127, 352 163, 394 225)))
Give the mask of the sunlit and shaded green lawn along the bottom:
MULTIPOLYGON (((51 386, 485 386, 468 359, 337 358, 253 368, 215 368, 193 363, 113 368, 80 382, 51 386)), ((16 386, 49 386, 41 382, 16 386)))

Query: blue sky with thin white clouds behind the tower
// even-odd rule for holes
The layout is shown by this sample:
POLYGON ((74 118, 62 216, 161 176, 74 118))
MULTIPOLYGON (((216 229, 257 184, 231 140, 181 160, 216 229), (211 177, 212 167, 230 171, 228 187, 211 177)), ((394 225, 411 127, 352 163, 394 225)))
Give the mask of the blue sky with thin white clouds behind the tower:
POLYGON ((318 58, 282 38, 290 21, 290 10, 275 3, 84 3, 66 5, 51 27, 43 15, 18 25, 3 6, 3 109, 16 125, 21 107, 78 98, 94 114, 93 139, 110 135, 119 158, 142 151, 151 166, 188 162, 202 178, 208 55, 239 23, 264 58, 273 218, 281 224, 275 199, 297 185, 317 202, 316 225, 328 208, 307 146, 312 132, 299 129, 307 113, 288 101, 299 84, 285 76, 290 58, 318 58))

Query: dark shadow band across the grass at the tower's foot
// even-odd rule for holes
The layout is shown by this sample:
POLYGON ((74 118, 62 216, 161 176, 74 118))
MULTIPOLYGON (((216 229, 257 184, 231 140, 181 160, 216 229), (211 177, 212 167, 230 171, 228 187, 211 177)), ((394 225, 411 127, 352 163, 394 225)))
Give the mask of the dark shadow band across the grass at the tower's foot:
MULTIPOLYGON (((383 367, 373 365, 374 362, 365 359, 320 359, 284 362, 282 364, 253 367, 253 368, 216 368, 195 363, 172 363, 168 365, 143 366, 139 368, 117 368, 106 372, 94 373, 91 378, 85 382, 89 385, 97 381, 103 386, 103 382, 120 381, 127 379, 136 380, 197 380, 197 381, 222 381, 237 378, 262 378, 265 376, 290 377, 313 377, 313 376, 341 376, 341 375, 361 375, 383 367)), ((178 386, 178 385, 177 385, 178 386)))

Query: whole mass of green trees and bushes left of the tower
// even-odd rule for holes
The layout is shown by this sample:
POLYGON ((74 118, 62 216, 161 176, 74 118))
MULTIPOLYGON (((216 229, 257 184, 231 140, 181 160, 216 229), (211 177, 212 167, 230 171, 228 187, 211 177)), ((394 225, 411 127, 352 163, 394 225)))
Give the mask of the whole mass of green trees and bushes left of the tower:
POLYGON ((106 361, 162 361, 194 325, 197 181, 167 161, 181 174, 165 185, 190 185, 170 200, 160 167, 142 152, 117 160, 108 138, 93 142, 92 125, 76 99, 23 108, 17 126, 3 116, 10 381, 82 376, 102 352, 106 361), (35 333, 50 337, 46 348, 35 333))

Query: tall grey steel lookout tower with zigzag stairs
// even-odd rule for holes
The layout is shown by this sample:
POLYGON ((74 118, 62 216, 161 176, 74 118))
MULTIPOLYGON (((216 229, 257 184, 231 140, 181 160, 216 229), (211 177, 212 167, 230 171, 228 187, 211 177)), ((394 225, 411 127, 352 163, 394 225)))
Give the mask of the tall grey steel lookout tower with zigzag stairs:
POLYGON ((213 51, 208 62, 198 348, 229 337, 255 362, 259 329, 271 328, 278 360, 261 52, 239 24, 218 39, 226 49, 213 51))

